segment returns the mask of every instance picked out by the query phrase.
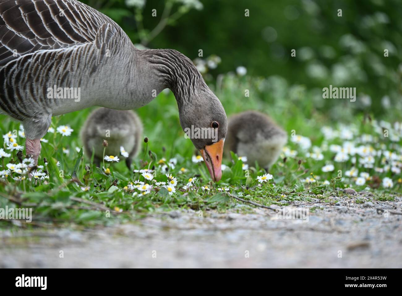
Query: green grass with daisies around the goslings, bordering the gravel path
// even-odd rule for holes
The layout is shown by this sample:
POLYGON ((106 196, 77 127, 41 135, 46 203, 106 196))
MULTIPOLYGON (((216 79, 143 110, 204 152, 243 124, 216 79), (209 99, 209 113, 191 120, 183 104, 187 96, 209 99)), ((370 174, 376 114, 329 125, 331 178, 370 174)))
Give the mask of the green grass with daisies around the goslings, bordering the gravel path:
MULTIPOLYGON (((334 162, 334 153, 325 150, 323 144, 342 145, 345 140, 334 138, 325 140, 320 128, 324 125, 338 129, 338 123, 342 122, 355 129, 353 139, 358 141, 362 134, 370 134, 374 141, 369 143, 375 150, 394 151, 399 159, 393 160, 395 166, 400 165, 402 159, 401 142, 391 142, 375 132, 373 123, 363 113, 354 113, 353 103, 340 101, 331 102, 333 108, 315 105, 314 97, 307 92, 303 86, 288 86, 279 78, 271 77, 251 78, 226 75, 222 88, 215 90, 221 99, 227 114, 241 112, 247 109, 257 109, 269 114, 289 134, 287 147, 297 151, 295 156, 284 156, 271 168, 270 173, 274 179, 262 186, 258 185, 256 177, 265 173, 258 165, 250 165, 246 172, 242 169, 242 161, 237 156, 226 156, 223 163, 228 169, 223 171, 222 180, 214 184, 211 182, 205 164, 193 163, 191 156, 196 151, 191 140, 185 139, 178 118, 176 101, 172 93, 161 93, 154 101, 145 107, 137 110, 144 124, 144 136, 148 137, 148 147, 142 143, 142 150, 133 162, 135 169, 156 169, 154 180, 167 181, 160 168, 160 160, 165 158, 176 158, 177 164, 168 173, 177 178, 178 185, 176 193, 169 195, 168 191, 160 186, 154 187, 146 195, 133 195, 138 190, 125 188, 130 182, 144 178, 139 173, 129 171, 125 166, 123 156, 120 156, 119 163, 106 163, 110 174, 105 174, 90 162, 91 156, 82 156, 82 143, 79 132, 88 114, 94 109, 86 109, 53 117, 52 127, 56 129, 59 125, 69 125, 74 129, 71 136, 62 136, 58 133, 48 133, 45 136, 48 143, 42 143, 42 153, 39 165, 44 165, 44 158, 48 164, 44 169, 49 173, 47 180, 14 180, 17 174, 9 175, 1 179, 0 208, 8 207, 30 207, 33 208, 33 223, 37 226, 61 226, 67 223, 82 224, 84 226, 102 224, 110 225, 116 222, 127 222, 142 218, 144 215, 158 211, 169 211, 178 208, 191 208, 193 210, 206 211, 216 209, 225 212, 234 208, 240 201, 237 201, 226 193, 218 191, 219 187, 229 187, 232 195, 243 199, 260 203, 263 205, 279 204, 281 200, 287 202, 312 201, 312 198, 319 198, 329 201, 330 196, 342 196, 341 189, 353 187, 357 191, 370 186, 378 196, 378 200, 392 200, 394 193, 401 192, 401 181, 391 171, 378 173, 374 169, 366 169, 358 166, 359 173, 369 173, 371 180, 367 180, 363 186, 355 184, 353 177, 345 177, 353 164, 351 158, 346 162, 334 162), (250 90, 250 97, 244 97, 244 90, 250 90), (334 113, 343 104, 345 109, 340 109, 342 114, 334 113), (346 115, 356 114, 347 117, 346 115), (336 120, 341 118, 342 121, 336 120), (307 157, 307 152, 291 141, 291 134, 302 135, 312 140, 313 146, 322 148, 322 160, 314 160, 307 157), (383 145, 383 146, 381 146, 383 145), (64 149, 69 153, 64 153, 64 149), (144 157, 143 157, 144 156, 144 157), (57 162, 60 163, 57 166, 57 162), (322 167, 326 163, 334 164, 332 172, 324 173, 322 167), (185 172, 180 171, 185 168, 185 172), (343 173, 343 179, 338 177, 338 170, 343 173), (74 173, 75 172, 75 173, 74 173), (195 187, 191 191, 182 191, 180 188, 187 183, 189 178, 197 177, 195 187), (392 188, 385 188, 381 180, 389 177, 393 181, 392 188), (307 183, 306 178, 314 181, 307 183), (329 184, 323 182, 327 180, 329 184), (379 183, 378 183, 379 182, 379 183), (208 186, 209 191, 202 190, 202 186, 208 186), (85 190, 83 190, 83 188, 85 190)), ((397 114, 397 112, 395 113, 397 114)), ((392 121, 393 115, 389 118, 378 118, 377 120, 392 121)), ((12 121, 10 117, 2 116, 0 120, 0 131, 6 134, 8 131, 18 131, 20 123, 12 121)), ((392 132, 398 133, 398 131, 392 132)), ((23 145, 25 139, 16 138, 18 144, 23 145)), ((356 146, 361 144, 357 143, 356 146)), ((4 150, 6 145, 3 144, 4 150)), ((359 160, 359 157, 357 157, 359 160)), ((3 157, 0 160, 1 170, 9 162, 18 163, 16 152, 12 152, 10 158, 3 157)), ((384 168, 386 162, 383 156, 375 157, 374 167, 384 168)), ((2 220, 4 221, 4 220, 2 220)), ((0 227, 9 227, 10 223, 0 223, 0 227)), ((23 225, 26 227, 27 225, 23 225)))

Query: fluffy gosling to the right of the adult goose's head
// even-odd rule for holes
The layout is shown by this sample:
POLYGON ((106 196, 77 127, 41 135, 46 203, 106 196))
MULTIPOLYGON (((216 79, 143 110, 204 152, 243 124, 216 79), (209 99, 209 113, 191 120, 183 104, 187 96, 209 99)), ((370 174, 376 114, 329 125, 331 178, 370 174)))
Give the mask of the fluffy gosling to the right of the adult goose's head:
POLYGON ((229 118, 225 155, 230 151, 246 156, 247 163, 258 163, 267 171, 278 159, 287 134, 267 115, 258 111, 244 111, 229 118))

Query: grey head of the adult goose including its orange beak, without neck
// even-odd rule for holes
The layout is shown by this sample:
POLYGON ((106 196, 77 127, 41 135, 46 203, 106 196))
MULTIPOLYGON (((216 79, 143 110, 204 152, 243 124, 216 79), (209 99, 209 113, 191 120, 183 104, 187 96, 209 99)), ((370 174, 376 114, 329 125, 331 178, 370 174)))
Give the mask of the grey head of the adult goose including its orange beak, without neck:
POLYGON ((180 125, 204 159, 213 181, 222 178, 222 154, 228 119, 222 103, 209 88, 200 87, 179 109, 180 125))

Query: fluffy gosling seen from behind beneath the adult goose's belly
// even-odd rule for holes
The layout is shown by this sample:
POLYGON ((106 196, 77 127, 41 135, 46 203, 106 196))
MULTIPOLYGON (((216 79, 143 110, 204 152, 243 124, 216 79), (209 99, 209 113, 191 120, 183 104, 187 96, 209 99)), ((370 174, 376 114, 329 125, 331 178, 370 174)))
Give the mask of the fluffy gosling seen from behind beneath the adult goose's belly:
POLYGON ((133 111, 98 108, 86 119, 81 129, 81 141, 84 152, 99 166, 105 155, 125 154, 125 162, 130 169, 133 158, 141 147, 142 123, 133 111), (107 140, 107 146, 103 146, 107 140))

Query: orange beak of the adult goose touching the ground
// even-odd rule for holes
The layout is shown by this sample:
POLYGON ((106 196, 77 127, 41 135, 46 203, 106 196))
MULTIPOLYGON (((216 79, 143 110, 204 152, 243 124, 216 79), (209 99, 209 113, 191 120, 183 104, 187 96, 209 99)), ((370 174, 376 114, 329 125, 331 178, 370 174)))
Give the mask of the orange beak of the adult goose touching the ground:
POLYGON ((222 178, 222 155, 224 153, 224 140, 205 146, 200 150, 204 158, 209 174, 213 181, 217 182, 222 178))

